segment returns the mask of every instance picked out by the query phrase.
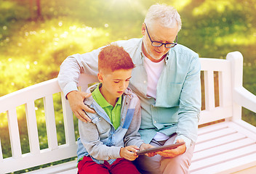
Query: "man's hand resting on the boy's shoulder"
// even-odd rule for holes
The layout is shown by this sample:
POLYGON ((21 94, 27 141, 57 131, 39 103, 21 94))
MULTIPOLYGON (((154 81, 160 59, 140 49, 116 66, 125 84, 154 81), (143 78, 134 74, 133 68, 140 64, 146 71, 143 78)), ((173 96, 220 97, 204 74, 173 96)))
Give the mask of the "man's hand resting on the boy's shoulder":
POLYGON ((67 94, 68 102, 69 102, 69 105, 71 106, 73 114, 76 115, 76 117, 79 120, 85 123, 87 123, 87 121, 91 122, 91 120, 85 114, 84 111, 95 113, 94 110, 89 109, 89 107, 87 107, 84 104, 84 99, 88 98, 89 96, 92 96, 92 94, 81 92, 81 91, 71 91, 70 93, 67 94))

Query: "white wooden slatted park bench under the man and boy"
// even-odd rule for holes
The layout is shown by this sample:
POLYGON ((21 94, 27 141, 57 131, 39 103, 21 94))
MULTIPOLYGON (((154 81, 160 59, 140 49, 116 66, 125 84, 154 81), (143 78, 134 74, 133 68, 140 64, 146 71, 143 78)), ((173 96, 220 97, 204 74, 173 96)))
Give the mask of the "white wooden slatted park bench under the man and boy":
MULTIPOLYGON (((241 120, 241 107, 256 112, 256 96, 242 86, 243 57, 231 52, 227 59, 201 58, 202 106, 199 138, 193 154, 191 173, 256 173, 256 128, 241 120), (215 89, 217 75, 218 89, 215 89), (216 92, 217 91, 217 92, 216 92), (217 100, 217 102, 215 102, 217 100), (215 104, 217 103, 217 104, 215 104), (223 120, 222 122, 218 120, 223 120), (216 122, 215 124, 208 123, 216 122)), ((81 75, 79 85, 87 87, 95 78, 81 75), (84 80, 84 79, 87 80, 84 80)), ((57 79, 1 96, 0 113, 6 113, 12 157, 4 158, 0 146, 0 173, 76 157, 73 116, 62 96, 65 144, 58 145, 52 94, 60 93, 57 79), (44 99, 48 148, 40 149, 35 100, 44 99), (25 106, 30 152, 22 153, 16 107, 25 106)), ((0 141, 1 145, 1 141, 0 141)), ((53 165, 31 173, 76 173, 76 161, 53 165)))

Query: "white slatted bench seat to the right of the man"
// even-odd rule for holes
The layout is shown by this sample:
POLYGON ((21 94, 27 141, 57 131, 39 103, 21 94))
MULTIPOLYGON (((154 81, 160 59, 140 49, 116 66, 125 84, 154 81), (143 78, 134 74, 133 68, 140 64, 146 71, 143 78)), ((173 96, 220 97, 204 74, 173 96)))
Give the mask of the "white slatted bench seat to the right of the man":
POLYGON ((242 120, 199 128, 191 174, 247 173, 256 167, 255 135, 256 128, 242 120))

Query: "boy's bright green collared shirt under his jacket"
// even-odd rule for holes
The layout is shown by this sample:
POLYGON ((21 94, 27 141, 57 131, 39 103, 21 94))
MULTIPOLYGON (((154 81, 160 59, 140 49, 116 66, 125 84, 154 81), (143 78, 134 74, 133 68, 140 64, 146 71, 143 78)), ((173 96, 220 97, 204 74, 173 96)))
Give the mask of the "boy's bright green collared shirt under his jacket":
POLYGON ((119 97, 115 107, 113 107, 111 104, 108 103, 108 101, 105 100, 104 96, 100 93, 99 86, 100 84, 97 86, 97 88, 95 88, 94 91, 92 91, 92 98, 95 99, 97 104, 99 104, 100 107, 102 107, 105 110, 105 112, 111 120, 111 123, 113 124, 113 127, 117 129, 120 125, 122 97, 119 97))

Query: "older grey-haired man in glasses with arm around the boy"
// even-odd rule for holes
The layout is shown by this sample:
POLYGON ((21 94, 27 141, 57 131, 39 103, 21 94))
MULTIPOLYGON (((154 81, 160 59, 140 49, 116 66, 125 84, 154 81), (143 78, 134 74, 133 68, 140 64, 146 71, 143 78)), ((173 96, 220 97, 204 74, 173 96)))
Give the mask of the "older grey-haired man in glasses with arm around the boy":
MULTIPOLYGON (((115 42, 136 65, 129 87, 141 101, 139 132, 143 141, 153 146, 185 141, 185 145, 154 157, 140 155, 135 164, 141 173, 188 173, 191 164, 201 108, 201 66, 198 54, 177 43, 180 28, 177 10, 156 4, 145 16, 143 38, 115 42)), ((73 113, 85 122, 90 120, 84 110, 93 112, 83 104, 90 94, 78 91, 76 84, 80 73, 97 75, 100 50, 68 57, 58 75, 73 113)), ((140 146, 140 150, 145 148, 140 146)))

